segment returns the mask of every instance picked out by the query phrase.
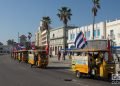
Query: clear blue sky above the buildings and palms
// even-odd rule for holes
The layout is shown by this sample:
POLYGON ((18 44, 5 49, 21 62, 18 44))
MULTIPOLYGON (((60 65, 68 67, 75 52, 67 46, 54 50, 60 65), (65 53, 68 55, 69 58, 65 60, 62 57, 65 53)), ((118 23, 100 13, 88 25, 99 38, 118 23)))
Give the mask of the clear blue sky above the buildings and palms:
MULTIPOLYGON (((50 16, 52 27, 62 26, 56 16, 59 8, 72 10, 70 25, 83 26, 92 23, 92 0, 0 0, 0 42, 8 39, 17 42, 18 32, 27 36, 37 31, 43 16, 50 16)), ((96 22, 120 19, 120 0, 100 0, 101 9, 96 22)), ((32 38, 34 40, 34 36, 32 38)))

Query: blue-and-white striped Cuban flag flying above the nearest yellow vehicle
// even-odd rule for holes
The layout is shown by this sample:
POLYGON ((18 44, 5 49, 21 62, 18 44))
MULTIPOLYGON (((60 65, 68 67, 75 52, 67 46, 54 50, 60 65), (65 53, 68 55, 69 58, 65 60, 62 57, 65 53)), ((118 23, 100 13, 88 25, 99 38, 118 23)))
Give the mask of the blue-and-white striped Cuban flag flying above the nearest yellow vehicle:
POLYGON ((82 31, 80 31, 80 33, 77 35, 74 44, 76 48, 81 48, 81 49, 83 49, 87 45, 86 38, 84 37, 82 31))

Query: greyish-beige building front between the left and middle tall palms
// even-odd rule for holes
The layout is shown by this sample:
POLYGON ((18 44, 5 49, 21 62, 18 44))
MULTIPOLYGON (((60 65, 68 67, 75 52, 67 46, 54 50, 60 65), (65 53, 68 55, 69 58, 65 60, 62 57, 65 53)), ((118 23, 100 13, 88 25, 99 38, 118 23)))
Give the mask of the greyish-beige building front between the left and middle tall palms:
POLYGON ((50 30, 50 54, 57 55, 58 51, 63 49, 63 29, 57 28, 50 30))

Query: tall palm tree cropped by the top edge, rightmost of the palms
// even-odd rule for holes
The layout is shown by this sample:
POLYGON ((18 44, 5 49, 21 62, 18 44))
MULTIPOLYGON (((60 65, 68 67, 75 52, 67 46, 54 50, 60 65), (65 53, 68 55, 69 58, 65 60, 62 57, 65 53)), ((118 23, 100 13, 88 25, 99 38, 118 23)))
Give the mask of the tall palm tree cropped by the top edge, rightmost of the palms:
POLYGON ((97 16, 98 9, 100 9, 100 0, 92 0, 93 7, 92 7, 92 13, 93 13, 93 40, 94 40, 94 24, 95 24, 95 17, 97 16))

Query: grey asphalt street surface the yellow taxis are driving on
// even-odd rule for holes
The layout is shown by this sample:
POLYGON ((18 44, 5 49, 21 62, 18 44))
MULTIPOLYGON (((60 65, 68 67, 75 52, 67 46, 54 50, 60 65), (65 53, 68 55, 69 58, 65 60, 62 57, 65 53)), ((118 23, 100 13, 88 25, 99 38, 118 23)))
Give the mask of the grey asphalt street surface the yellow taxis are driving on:
POLYGON ((19 63, 10 55, 0 56, 0 86, 114 86, 111 82, 88 78, 77 79, 70 60, 49 58, 46 69, 19 63))

